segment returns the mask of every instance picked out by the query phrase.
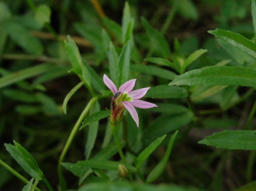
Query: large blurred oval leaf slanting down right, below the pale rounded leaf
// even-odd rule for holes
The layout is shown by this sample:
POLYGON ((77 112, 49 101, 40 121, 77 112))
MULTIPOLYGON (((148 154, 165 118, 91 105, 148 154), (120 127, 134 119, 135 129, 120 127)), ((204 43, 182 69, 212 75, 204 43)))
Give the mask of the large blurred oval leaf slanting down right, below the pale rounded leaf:
POLYGON ((41 42, 36 37, 32 36, 21 24, 8 22, 6 28, 11 39, 26 52, 33 55, 43 54, 43 45, 41 42))

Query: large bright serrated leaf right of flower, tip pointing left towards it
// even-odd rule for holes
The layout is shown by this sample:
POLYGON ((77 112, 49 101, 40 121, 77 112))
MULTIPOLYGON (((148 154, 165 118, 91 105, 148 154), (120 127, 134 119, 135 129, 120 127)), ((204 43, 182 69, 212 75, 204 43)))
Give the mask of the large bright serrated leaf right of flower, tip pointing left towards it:
POLYGON ((175 77, 169 85, 235 85, 256 87, 256 70, 239 66, 206 66, 175 77))

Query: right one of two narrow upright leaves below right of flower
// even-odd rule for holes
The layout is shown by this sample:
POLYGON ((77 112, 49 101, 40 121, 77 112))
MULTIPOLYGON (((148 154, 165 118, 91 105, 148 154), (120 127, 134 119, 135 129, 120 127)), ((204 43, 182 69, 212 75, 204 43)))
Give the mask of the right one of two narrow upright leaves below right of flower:
POLYGON ((170 157, 173 143, 174 143, 174 140, 175 140, 175 137, 177 134, 178 134, 178 131, 175 131, 175 133, 171 136, 170 141, 168 142, 168 146, 167 146, 166 152, 164 154, 164 157, 155 166, 155 168, 149 173, 149 176, 147 176, 147 183, 151 183, 154 180, 156 180, 161 175, 161 173, 164 171, 166 163, 170 157))

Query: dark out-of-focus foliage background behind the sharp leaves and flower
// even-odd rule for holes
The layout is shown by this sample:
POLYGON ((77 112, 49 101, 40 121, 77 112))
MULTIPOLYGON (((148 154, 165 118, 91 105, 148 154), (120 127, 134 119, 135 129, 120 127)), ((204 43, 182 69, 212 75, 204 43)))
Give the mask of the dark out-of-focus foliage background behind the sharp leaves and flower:
MULTIPOLYGON (((86 88, 82 87, 70 99, 68 114, 64 115, 61 107, 64 97, 79 83, 79 78, 74 73, 68 73, 71 64, 63 40, 67 34, 75 40, 83 59, 100 78, 109 70, 107 51, 110 40, 118 54, 126 42, 126 37, 120 33, 125 2, 99 0, 103 12, 95 9, 92 2, 95 1, 0 1, 0 158, 28 177, 3 146, 5 142, 19 142, 35 157, 55 188, 58 185, 56 163, 59 154, 90 98, 86 88)), ((173 79, 170 73, 169 77, 161 78, 160 74, 137 67, 141 63, 145 65, 144 58, 170 59, 172 55, 178 60, 185 60, 201 48, 208 52, 193 62, 188 70, 221 61, 231 66, 256 68, 254 58, 207 33, 208 30, 221 28, 251 39, 254 32, 250 0, 130 0, 129 5, 134 19, 131 35, 135 47, 130 76, 137 78, 137 87, 166 85, 173 79), (155 32, 155 29, 160 32, 155 32), (159 34, 163 34, 166 41, 159 34), (165 46, 171 48, 166 49, 165 46)), ((150 62, 147 65, 156 66, 150 62)), ((168 66, 161 67, 175 72, 168 66)), ((138 110, 139 129, 130 116, 126 116, 129 127, 127 150, 134 153, 141 151, 157 136, 182 128, 172 151, 172 160, 168 161, 157 183, 234 190, 256 178, 253 162, 250 163, 255 158, 255 152, 230 152, 197 144, 205 136, 221 129, 241 128, 253 104, 251 97, 222 113, 202 113, 203 117, 198 120, 187 108, 184 99, 186 91, 173 87, 177 95, 169 96, 168 92, 165 94, 161 87, 158 88, 162 94, 149 92, 147 97, 159 107, 138 110), (152 99, 154 97, 157 99, 152 99)), ((247 91, 245 87, 229 86, 202 95, 201 92, 208 87, 194 88, 191 99, 197 110, 204 112, 218 110, 219 106, 230 108, 247 91)), ((101 86, 97 90, 102 93, 104 89, 101 86)), ((100 104, 102 109, 109 108, 110 100, 100 100, 100 104)), ((106 122, 105 119, 99 123, 92 154, 109 142, 105 136, 106 122)), ((76 135, 65 161, 84 159, 87 133, 88 129, 84 128, 76 135)), ((167 141, 164 141, 166 144, 167 141)), ((165 146, 154 152, 148 161, 149 169, 144 171, 150 172, 164 152, 165 146)), ((76 188, 77 178, 70 172, 64 173, 69 188, 76 188)), ((1 190, 23 187, 23 183, 2 167, 0 177, 1 190)))

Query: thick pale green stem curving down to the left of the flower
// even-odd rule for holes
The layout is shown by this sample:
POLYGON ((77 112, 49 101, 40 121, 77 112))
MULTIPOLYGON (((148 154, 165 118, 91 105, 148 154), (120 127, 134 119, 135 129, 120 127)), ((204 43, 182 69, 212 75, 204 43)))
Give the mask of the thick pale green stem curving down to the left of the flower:
POLYGON ((83 112, 81 113, 81 115, 79 116, 78 120, 76 121, 76 124, 74 125, 71 133, 69 134, 68 140, 61 152, 61 155, 59 157, 59 161, 58 161, 58 176, 59 176, 59 183, 60 183, 60 187, 61 190, 66 188, 66 182, 64 180, 63 174, 62 174, 62 169, 61 169, 61 162, 63 161, 70 145, 71 142, 74 139, 74 136, 76 134, 76 132, 78 131, 84 117, 87 115, 87 113, 89 112, 90 108, 92 107, 92 105, 96 102, 98 98, 97 97, 92 97, 92 99, 88 102, 88 104, 86 105, 86 107, 84 108, 83 112))

